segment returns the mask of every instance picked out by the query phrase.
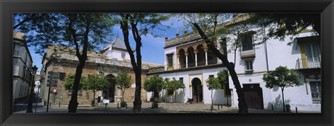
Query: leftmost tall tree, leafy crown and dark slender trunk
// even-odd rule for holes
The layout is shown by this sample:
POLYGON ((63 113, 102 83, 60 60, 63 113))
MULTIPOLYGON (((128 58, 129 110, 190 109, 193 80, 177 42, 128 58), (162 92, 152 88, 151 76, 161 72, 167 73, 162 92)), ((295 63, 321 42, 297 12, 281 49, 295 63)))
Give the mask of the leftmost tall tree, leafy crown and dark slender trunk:
MULTIPOLYGON (((40 14, 35 14, 40 15, 40 14)), ((17 17, 19 18, 19 17, 17 17)), ((43 55, 49 45, 73 47, 79 60, 75 72, 72 96, 68 105, 69 113, 77 112, 77 93, 82 70, 86 64, 87 52, 97 51, 111 36, 113 24, 110 16, 98 13, 47 13, 40 22, 25 22, 17 29, 28 29, 27 43, 35 47, 35 52, 43 55)))

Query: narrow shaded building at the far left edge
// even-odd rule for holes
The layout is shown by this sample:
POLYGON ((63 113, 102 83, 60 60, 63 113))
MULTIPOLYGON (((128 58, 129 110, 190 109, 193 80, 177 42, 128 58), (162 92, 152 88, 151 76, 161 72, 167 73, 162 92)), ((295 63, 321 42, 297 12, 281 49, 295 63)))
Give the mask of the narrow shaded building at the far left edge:
POLYGON ((25 33, 13 32, 13 103, 26 99, 32 81, 33 60, 25 39, 25 33))

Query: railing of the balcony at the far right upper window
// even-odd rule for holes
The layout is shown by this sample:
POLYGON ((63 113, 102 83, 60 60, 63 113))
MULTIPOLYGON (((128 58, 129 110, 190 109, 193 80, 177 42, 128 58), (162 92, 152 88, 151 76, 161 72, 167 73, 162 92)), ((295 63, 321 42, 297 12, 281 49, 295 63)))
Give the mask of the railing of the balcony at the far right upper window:
POLYGON ((296 62, 296 69, 321 68, 320 58, 299 58, 296 62))

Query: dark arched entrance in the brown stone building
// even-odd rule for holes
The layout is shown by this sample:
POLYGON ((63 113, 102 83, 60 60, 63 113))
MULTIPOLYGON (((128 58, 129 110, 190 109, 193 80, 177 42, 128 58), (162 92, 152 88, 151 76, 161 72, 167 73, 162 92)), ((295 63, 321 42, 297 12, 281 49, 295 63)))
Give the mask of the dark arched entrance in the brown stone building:
POLYGON ((108 74, 105 77, 109 81, 109 87, 106 91, 103 91, 103 97, 109 100, 109 102, 115 102, 114 97, 116 93, 116 81, 113 74, 108 74))

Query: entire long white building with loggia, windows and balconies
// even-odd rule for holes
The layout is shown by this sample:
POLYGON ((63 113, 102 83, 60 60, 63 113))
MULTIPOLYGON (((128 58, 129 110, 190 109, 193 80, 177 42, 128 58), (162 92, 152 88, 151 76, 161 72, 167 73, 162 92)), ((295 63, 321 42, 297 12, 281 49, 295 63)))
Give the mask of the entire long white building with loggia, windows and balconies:
MULTIPOLYGON (((238 26, 237 22, 242 20, 232 19, 227 25, 233 29, 234 26, 238 26)), ((291 109, 298 108, 301 111, 321 111, 319 36, 312 31, 303 31, 296 36, 288 35, 284 40, 265 40, 265 30, 248 26, 248 29, 238 36, 221 35, 215 42, 217 49, 221 50, 221 53, 228 52, 228 61, 234 63, 248 108, 283 110, 281 89, 266 88, 262 77, 270 70, 286 66, 297 70, 303 85, 285 88, 285 104, 289 104, 291 109), (240 45, 236 46, 235 42, 239 42, 240 45), (223 43, 226 43, 225 51, 222 51, 223 43)), ((210 53, 200 36, 196 33, 184 33, 183 36, 179 36, 177 33, 175 38, 166 37, 164 49, 165 66, 150 69, 148 77, 159 75, 164 78, 182 79, 186 88, 177 90, 176 102, 185 103, 187 98, 193 98, 194 102, 211 104, 211 91, 208 90, 205 80, 217 77, 217 73, 226 68, 210 53)), ((238 107, 237 92, 230 76, 226 87, 230 90, 224 87, 214 90, 214 104, 238 107)), ((175 101, 173 95, 175 94, 160 94, 167 102, 175 101)), ((152 93, 148 93, 148 97, 152 97, 152 93)))

